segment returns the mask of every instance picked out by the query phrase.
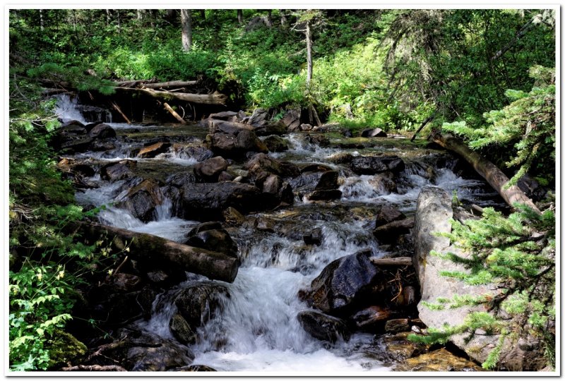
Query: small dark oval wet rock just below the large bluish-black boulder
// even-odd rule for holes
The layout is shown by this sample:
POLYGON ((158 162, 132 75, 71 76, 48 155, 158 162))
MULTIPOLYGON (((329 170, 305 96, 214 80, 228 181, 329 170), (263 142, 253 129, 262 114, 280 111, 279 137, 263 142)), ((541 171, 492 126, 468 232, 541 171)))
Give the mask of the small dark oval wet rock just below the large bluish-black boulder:
POLYGON ((351 333, 345 322, 338 317, 319 313, 318 311, 302 311, 297 316, 304 331, 316 339, 335 343, 339 339, 350 339, 351 333))

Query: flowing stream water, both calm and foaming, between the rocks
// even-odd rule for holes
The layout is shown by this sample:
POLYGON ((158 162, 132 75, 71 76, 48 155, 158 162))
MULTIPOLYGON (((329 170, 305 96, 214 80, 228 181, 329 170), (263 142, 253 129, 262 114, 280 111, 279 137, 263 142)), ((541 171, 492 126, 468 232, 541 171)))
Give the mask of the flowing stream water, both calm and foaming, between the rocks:
MULTIPOLYGON (((61 119, 76 119, 88 123, 68 98, 59 101, 61 119)), ((117 133, 115 147, 110 150, 68 155, 73 159, 88 160, 91 164, 118 162, 131 159, 137 162, 136 176, 165 181, 172 174, 192 172, 198 157, 187 150, 175 150, 174 144, 200 143, 206 129, 178 125, 128 125, 112 123, 101 116, 117 133), (154 158, 140 159, 136 150, 144 143, 166 137, 172 148, 154 158)), ((384 361, 382 343, 374 334, 355 333, 349 341, 329 344, 311 337, 302 329, 297 314, 309 310, 298 297, 312 279, 335 259, 370 248, 379 258, 388 248, 381 245, 372 231, 381 205, 393 205, 410 217, 416 209, 416 200, 423 186, 434 185, 448 193, 456 192, 460 202, 480 207, 504 205, 499 196, 480 179, 465 179, 456 174, 456 159, 441 150, 409 145, 408 139, 372 138, 368 147, 338 148, 331 144, 320 147, 309 143, 304 133, 283 135, 289 150, 270 153, 271 157, 290 161, 299 167, 306 164, 324 164, 339 173, 338 200, 312 202, 295 197, 294 205, 270 212, 246 216, 246 219, 267 219, 284 226, 285 231, 259 231, 252 224, 230 228, 230 236, 237 243, 242 261, 234 283, 218 282, 229 290, 230 298, 222 299, 222 312, 210 317, 198 327, 198 341, 190 349, 196 356, 194 364, 208 365, 219 371, 296 372, 302 374, 323 372, 331 375, 350 375, 357 372, 383 372, 391 369, 384 361), (396 182, 396 191, 389 193, 376 186, 374 176, 357 175, 343 164, 335 164, 336 155, 353 157, 385 152, 401 157, 406 167, 396 182), (304 245, 302 233, 321 229, 321 243, 304 245), (299 232, 299 234, 297 233, 299 232)), ((333 141, 332 141, 333 143, 333 141)), ((95 165, 93 165, 95 167, 95 165)), ((234 162, 230 169, 242 164, 234 162)), ((98 215, 100 222, 132 231, 161 236, 184 242, 190 229, 200 222, 173 217, 172 202, 164 198, 157 207, 156 219, 142 222, 112 203, 124 195, 119 191, 125 180, 105 181, 100 173, 88 177, 96 188, 76 192, 81 205, 107 205, 98 215)), ((123 193, 123 192, 122 192, 123 193)), ((190 281, 206 279, 187 274, 190 281)), ((182 288, 187 282, 179 284, 182 288)), ((177 307, 170 293, 157 296, 153 315, 148 320, 133 323, 139 329, 172 339, 169 319, 177 307)))

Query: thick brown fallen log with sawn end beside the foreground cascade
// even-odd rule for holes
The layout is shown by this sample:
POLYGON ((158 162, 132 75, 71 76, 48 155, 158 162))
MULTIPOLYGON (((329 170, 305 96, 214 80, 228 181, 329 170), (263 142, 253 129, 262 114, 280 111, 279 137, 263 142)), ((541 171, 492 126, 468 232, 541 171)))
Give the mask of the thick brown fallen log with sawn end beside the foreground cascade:
POLYGON ((237 258, 169 241, 153 234, 95 223, 81 223, 78 229, 87 240, 99 241, 100 237, 106 236, 114 248, 124 250, 128 247, 129 258, 151 266, 167 262, 169 266, 230 283, 234 282, 239 269, 237 258))

